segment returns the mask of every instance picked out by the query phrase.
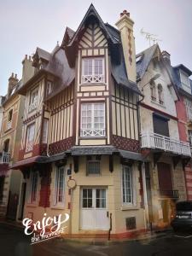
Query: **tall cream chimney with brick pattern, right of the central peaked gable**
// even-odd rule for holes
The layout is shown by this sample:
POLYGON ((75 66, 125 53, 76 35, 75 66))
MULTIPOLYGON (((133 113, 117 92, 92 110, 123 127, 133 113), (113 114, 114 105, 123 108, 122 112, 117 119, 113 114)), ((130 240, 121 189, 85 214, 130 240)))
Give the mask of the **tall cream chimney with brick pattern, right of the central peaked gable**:
POLYGON ((120 31, 127 76, 132 82, 136 82, 136 49, 135 38, 133 36, 134 22, 130 18, 130 13, 124 10, 115 25, 120 31))

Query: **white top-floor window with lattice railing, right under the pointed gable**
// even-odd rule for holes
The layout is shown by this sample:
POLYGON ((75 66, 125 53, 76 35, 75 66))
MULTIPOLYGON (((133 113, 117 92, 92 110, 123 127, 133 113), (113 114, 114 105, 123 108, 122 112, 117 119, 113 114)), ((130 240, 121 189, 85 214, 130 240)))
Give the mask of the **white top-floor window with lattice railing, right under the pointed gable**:
POLYGON ((104 77, 103 58, 89 58, 82 60, 82 84, 103 83, 104 77))

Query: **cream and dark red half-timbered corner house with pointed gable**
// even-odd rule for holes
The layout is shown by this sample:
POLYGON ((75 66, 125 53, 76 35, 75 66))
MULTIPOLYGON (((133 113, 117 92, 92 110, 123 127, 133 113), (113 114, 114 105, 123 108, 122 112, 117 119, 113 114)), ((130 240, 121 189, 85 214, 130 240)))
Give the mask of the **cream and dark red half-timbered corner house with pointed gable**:
POLYGON ((20 160, 24 216, 70 213, 67 233, 127 236, 146 228, 139 154, 133 21, 104 23, 91 4, 61 46, 38 48, 26 96, 20 160))

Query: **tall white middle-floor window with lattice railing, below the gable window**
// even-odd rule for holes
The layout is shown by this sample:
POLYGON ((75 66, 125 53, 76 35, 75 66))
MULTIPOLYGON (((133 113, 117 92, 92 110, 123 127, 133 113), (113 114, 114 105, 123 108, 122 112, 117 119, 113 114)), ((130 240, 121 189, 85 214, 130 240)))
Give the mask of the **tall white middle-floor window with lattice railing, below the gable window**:
POLYGON ((105 136, 105 103, 82 103, 81 137, 105 136))

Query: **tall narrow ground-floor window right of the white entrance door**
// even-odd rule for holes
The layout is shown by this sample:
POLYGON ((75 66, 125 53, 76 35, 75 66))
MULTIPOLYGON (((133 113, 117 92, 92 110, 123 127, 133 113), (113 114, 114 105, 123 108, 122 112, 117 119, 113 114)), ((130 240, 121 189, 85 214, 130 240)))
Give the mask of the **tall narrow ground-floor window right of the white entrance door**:
POLYGON ((123 203, 133 204, 131 167, 123 166, 122 172, 123 203))

